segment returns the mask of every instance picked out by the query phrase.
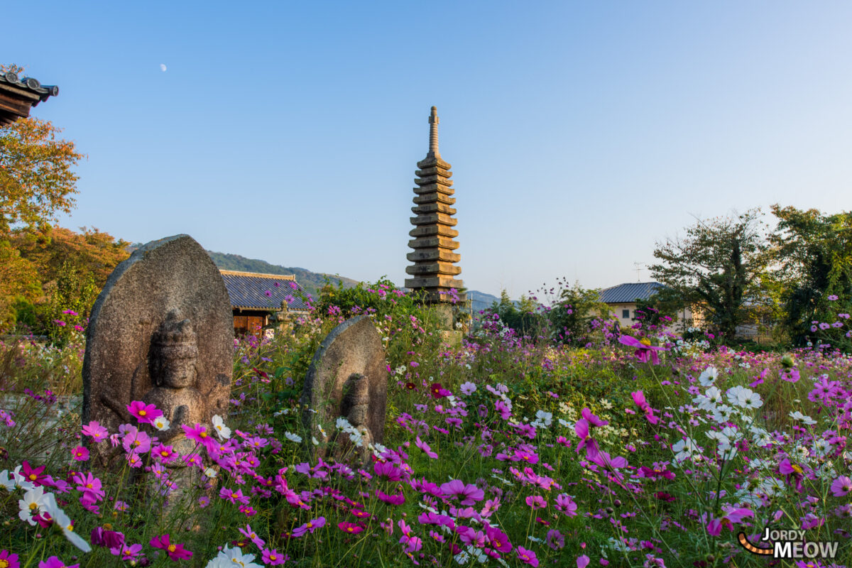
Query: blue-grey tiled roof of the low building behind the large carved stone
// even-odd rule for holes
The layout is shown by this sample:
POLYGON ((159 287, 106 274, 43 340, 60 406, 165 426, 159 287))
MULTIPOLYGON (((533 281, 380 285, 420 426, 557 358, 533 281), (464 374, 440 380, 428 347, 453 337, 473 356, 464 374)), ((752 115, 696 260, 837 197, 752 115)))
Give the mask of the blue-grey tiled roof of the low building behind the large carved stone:
MULTIPOLYGON (((308 306, 297 292, 304 290, 296 284, 291 274, 243 273, 236 270, 220 270, 225 281, 227 295, 231 297, 231 306, 250 310, 281 309, 281 302, 287 301, 291 312, 307 312, 308 306)), ((307 295, 307 294, 306 294, 307 295)))

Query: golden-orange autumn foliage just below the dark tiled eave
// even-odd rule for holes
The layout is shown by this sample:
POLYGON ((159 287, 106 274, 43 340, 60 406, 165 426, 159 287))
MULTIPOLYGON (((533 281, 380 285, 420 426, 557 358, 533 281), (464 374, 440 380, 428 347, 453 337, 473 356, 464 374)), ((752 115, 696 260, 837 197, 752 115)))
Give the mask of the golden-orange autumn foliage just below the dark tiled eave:
MULTIPOLYGON (((7 71, 23 68, 0 66, 7 71)), ((71 212, 78 180, 72 168, 83 154, 60 139, 60 132, 32 117, 0 128, 0 238, 15 225, 44 229, 57 212, 71 212)))

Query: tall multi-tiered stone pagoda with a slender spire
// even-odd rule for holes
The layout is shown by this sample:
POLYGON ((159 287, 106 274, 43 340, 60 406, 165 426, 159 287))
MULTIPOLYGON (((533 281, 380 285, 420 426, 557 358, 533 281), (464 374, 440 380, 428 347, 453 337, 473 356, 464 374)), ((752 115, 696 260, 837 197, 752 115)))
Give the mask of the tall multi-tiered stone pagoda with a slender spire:
POLYGON ((412 278, 406 278, 406 288, 425 291, 425 301, 442 303, 452 301, 450 289, 458 291, 458 301, 464 301, 461 293, 463 282, 456 276, 462 272, 455 263, 461 258, 453 252, 458 249, 458 243, 453 238, 458 231, 453 229, 456 220, 452 215, 456 209, 451 207, 456 203, 452 198, 452 166, 440 159, 438 152, 438 114, 435 106, 429 115, 429 153, 426 158, 417 162, 417 179, 414 183, 414 207, 412 217, 414 228, 408 234, 413 240, 408 246, 414 249, 407 255, 414 264, 406 267, 406 273, 412 278))

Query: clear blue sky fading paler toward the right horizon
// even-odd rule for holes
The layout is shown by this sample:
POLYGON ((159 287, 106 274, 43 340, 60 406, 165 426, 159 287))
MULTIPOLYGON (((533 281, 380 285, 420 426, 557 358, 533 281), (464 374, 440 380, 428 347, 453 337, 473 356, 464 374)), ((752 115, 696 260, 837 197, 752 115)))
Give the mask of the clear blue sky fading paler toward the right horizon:
POLYGON ((849 3, 4 11, 3 62, 60 86, 33 114, 88 155, 66 227, 402 284, 432 105, 475 290, 635 281, 694 215, 849 209, 849 3))

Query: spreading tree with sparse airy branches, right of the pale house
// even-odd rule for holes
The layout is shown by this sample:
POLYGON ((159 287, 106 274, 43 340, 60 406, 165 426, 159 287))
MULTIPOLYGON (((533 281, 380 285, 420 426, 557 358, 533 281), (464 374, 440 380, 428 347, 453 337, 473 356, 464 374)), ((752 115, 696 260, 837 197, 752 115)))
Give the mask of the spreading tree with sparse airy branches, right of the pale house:
POLYGON ((711 330, 728 341, 750 319, 753 307, 767 301, 762 278, 771 261, 759 220, 760 209, 742 215, 699 220, 685 238, 657 243, 650 267, 653 278, 699 308, 711 330))

